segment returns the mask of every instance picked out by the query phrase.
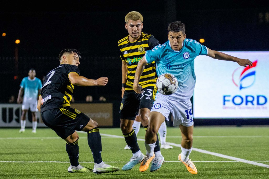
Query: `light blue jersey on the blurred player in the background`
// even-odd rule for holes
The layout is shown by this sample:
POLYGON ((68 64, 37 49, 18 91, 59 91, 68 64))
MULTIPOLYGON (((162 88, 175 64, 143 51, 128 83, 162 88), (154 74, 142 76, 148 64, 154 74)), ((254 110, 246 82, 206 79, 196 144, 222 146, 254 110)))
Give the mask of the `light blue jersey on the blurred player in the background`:
POLYGON ((24 88, 23 100, 36 101, 38 90, 41 90, 42 83, 37 77, 34 77, 33 80, 30 77, 24 77, 20 83, 20 87, 24 88))

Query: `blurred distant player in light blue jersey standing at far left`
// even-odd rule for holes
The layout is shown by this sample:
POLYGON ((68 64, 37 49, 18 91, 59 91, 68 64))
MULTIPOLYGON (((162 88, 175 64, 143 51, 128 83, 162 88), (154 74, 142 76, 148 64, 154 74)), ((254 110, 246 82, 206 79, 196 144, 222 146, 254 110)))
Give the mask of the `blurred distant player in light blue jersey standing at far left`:
POLYGON ((30 69, 28 77, 24 77, 20 83, 20 90, 17 99, 17 103, 22 102, 22 116, 20 119, 20 133, 25 132, 26 113, 30 108, 32 112, 32 133, 36 133, 37 127, 37 99, 41 92, 42 83, 39 78, 36 77, 36 70, 30 69), (22 100, 23 95, 23 100, 22 100))

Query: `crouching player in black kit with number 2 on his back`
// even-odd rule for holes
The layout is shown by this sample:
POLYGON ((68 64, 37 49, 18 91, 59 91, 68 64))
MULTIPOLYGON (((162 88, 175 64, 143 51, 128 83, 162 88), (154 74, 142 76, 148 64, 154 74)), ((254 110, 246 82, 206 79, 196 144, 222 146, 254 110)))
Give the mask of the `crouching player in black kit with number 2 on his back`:
POLYGON ((94 172, 97 174, 119 170, 102 161, 101 136, 98 124, 77 109, 70 107, 75 85, 105 86, 107 77, 97 80, 80 76, 78 65, 80 53, 75 49, 65 49, 59 54, 60 65, 51 70, 45 77, 41 95, 38 100, 38 110, 48 127, 66 141, 66 152, 70 160, 68 172, 94 172), (76 130, 88 133, 88 144, 94 159, 94 169, 91 170, 79 164, 79 135, 76 130))

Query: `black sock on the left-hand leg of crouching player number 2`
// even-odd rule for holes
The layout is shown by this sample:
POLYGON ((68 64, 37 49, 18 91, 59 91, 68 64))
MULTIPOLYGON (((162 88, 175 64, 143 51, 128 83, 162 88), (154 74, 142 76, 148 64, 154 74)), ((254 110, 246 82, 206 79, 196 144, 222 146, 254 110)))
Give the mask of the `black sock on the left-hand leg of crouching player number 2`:
POLYGON ((72 166, 77 167, 79 165, 79 146, 77 145, 79 138, 73 143, 66 142, 65 149, 69 156, 69 160, 72 166))

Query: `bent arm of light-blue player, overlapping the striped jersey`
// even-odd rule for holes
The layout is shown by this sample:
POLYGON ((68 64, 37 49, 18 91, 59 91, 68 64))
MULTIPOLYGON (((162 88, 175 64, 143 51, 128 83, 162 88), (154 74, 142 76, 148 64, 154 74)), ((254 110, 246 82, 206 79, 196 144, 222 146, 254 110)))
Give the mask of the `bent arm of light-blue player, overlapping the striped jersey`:
POLYGON ((143 58, 138 62, 137 68, 136 68, 136 72, 135 72, 135 76, 134 76, 134 91, 138 94, 142 93, 142 87, 139 85, 139 80, 140 77, 145 69, 145 66, 147 64, 147 61, 145 59, 145 56, 143 56, 143 58))

